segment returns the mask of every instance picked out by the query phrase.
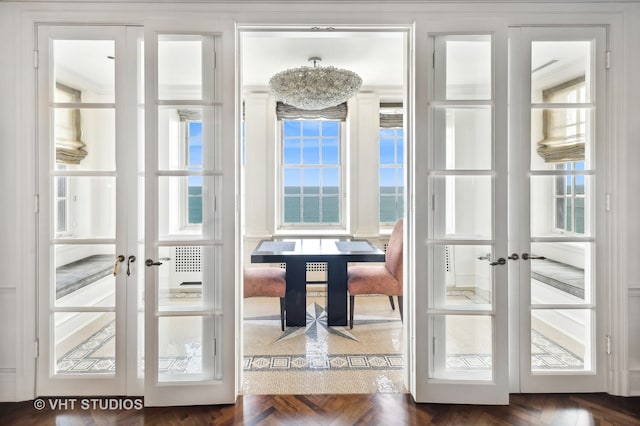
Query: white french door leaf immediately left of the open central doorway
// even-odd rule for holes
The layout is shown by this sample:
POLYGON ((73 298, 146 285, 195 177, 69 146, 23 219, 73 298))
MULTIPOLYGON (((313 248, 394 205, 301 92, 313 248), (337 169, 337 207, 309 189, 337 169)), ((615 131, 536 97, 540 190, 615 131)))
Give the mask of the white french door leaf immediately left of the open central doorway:
POLYGON ((145 27, 145 404, 237 395, 234 28, 145 27))

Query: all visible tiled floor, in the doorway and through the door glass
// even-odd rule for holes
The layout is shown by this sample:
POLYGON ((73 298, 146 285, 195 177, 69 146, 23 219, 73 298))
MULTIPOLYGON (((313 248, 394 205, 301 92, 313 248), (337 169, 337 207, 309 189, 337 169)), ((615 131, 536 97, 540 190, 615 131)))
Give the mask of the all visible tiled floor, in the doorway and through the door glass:
MULTIPOLYGON (((455 296, 463 297, 463 295, 455 296)), ((243 301, 243 394, 322 394, 405 392, 404 335, 398 311, 386 296, 359 296, 353 329, 327 327, 325 297, 310 292, 307 326, 280 329, 276 298, 243 301)), ((462 327, 464 328, 464 327, 462 327)), ((112 374, 114 323, 91 332, 82 344, 58 360, 61 374, 112 374)), ((463 339, 464 340, 464 339, 463 339)), ((198 352, 198 342, 195 352, 198 352)), ((449 352, 447 369, 490 369, 487 352, 463 344, 449 352)), ((199 357, 176 356, 160 360, 165 373, 197 369, 199 357)), ((582 369, 582 360, 533 332, 532 363, 537 369, 582 369)))

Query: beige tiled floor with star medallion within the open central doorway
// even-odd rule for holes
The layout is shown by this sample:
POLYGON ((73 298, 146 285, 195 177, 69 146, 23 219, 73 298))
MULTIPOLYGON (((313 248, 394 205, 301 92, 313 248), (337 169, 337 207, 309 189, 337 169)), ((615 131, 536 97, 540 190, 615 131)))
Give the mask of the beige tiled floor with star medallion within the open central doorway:
POLYGON ((244 301, 242 393, 405 392, 402 323, 386 296, 356 299, 353 329, 327 327, 324 296, 307 326, 280 330, 277 300, 244 301))

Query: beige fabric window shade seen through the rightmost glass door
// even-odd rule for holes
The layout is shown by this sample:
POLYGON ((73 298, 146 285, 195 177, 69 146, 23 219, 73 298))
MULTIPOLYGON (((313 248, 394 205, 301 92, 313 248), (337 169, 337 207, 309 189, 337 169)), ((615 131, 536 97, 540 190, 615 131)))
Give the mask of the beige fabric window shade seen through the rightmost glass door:
MULTIPOLYGON (((582 102, 584 76, 547 89, 545 103, 582 102)), ((586 113, 580 108, 545 109, 542 116, 543 136, 538 142, 538 155, 547 163, 583 161, 585 156, 586 113)))

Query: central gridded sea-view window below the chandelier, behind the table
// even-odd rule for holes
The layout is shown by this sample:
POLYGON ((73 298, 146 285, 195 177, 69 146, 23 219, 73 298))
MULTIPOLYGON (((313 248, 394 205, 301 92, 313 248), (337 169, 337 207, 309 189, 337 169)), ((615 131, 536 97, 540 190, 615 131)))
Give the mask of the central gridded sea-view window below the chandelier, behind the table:
POLYGON ((339 228, 344 223, 342 126, 333 120, 282 120, 281 228, 339 228))

